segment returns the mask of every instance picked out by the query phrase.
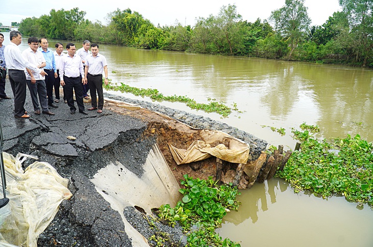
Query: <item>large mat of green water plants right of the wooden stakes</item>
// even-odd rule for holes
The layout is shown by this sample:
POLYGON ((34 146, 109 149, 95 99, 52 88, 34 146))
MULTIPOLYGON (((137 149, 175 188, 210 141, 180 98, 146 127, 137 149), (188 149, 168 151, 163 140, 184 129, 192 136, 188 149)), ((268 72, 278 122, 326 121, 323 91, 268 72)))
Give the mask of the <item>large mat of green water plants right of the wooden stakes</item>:
POLYGON ((373 145, 360 135, 338 138, 332 142, 312 137, 318 126, 302 124, 303 131, 293 130, 302 140, 284 171, 276 176, 288 181, 296 191, 310 190, 323 198, 343 195, 350 202, 373 207, 373 145))

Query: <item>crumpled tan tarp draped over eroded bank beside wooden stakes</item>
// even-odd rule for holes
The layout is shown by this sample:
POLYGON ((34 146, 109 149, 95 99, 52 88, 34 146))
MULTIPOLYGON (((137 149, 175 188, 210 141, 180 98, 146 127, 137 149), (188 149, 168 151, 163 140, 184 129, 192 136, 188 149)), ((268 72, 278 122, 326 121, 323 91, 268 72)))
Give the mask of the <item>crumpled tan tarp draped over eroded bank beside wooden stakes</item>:
POLYGON ((199 131, 199 135, 202 140, 194 141, 186 150, 168 144, 177 164, 191 163, 211 156, 232 163, 246 164, 249 158, 249 145, 247 143, 218 130, 202 129, 199 131), (216 143, 220 144, 211 147, 211 144, 216 143))

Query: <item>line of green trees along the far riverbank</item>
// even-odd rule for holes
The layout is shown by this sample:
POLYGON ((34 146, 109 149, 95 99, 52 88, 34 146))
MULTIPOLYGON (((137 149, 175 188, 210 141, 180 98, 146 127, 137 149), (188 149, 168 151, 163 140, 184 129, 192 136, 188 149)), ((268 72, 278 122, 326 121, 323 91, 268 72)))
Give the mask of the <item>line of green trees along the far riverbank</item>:
POLYGON ((195 26, 155 26, 140 13, 116 9, 107 25, 85 19, 85 11, 52 9, 49 15, 23 19, 27 36, 120 44, 144 49, 338 63, 373 67, 373 0, 339 0, 342 11, 311 26, 304 0, 285 0, 268 20, 248 22, 235 5, 199 17, 195 26))

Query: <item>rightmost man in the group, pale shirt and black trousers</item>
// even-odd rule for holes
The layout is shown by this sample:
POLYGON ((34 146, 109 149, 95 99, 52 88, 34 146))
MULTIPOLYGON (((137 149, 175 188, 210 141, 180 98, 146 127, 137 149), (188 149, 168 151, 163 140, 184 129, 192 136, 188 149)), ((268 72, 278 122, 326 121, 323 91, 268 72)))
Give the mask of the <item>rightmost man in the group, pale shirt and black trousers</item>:
POLYGON ((107 77, 107 62, 106 58, 99 53, 99 45, 93 43, 90 45, 92 54, 88 55, 85 60, 85 78, 89 83, 89 91, 91 96, 91 106, 88 111, 97 109, 97 113, 102 113, 104 107, 104 94, 102 90, 102 71, 105 72, 105 85, 108 84, 107 77), (99 96, 99 104, 97 105, 96 91, 99 96))

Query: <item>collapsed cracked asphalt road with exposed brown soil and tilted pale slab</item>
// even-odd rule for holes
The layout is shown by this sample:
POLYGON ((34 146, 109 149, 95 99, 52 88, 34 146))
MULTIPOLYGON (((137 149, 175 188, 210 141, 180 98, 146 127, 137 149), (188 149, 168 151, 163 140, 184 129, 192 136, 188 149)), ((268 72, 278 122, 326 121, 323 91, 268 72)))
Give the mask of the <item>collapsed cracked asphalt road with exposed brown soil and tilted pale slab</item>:
MULTIPOLYGON (((141 225, 140 219, 129 218, 132 213, 128 212, 134 206, 149 213, 161 204, 174 205, 182 175, 203 178, 215 173, 214 159, 177 166, 168 143, 186 149, 199 136, 149 109, 131 111, 107 102, 104 114, 71 115, 61 102, 55 116, 14 119, 11 100, 0 102, 0 108, 4 151, 37 156, 69 179, 73 197, 61 203, 52 223, 40 234, 38 246, 148 246, 144 233, 132 227, 141 225)), ((25 108, 32 108, 29 95, 25 108)), ((169 115, 174 118, 185 115, 166 111, 172 111, 169 115)), ((266 146, 258 139, 249 144, 251 157, 258 157, 266 146)), ((32 162, 28 159, 24 166, 32 162)))

